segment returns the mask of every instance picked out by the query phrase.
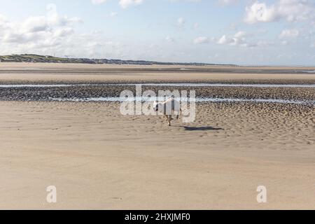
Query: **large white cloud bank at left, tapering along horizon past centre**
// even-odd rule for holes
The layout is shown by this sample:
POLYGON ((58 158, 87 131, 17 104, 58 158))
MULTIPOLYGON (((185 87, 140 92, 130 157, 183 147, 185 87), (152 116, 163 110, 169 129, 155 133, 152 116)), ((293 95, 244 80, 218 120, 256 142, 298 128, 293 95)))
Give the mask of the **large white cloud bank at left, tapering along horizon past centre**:
POLYGON ((160 52, 167 52, 158 52, 161 45, 157 44, 158 50, 151 55, 144 43, 112 41, 97 30, 78 32, 75 25, 79 25, 80 19, 59 14, 55 5, 47 9, 45 15, 34 15, 21 22, 0 15, 0 55, 34 53, 59 57, 158 59, 160 52))

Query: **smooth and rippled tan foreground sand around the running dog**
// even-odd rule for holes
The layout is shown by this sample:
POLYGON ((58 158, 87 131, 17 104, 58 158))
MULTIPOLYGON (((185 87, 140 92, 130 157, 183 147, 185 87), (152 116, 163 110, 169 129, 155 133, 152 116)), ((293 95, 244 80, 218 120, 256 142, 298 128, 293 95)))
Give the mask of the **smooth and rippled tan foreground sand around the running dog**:
POLYGON ((0 105, 0 209, 315 209, 312 109, 203 104, 186 130, 115 103, 0 105))

